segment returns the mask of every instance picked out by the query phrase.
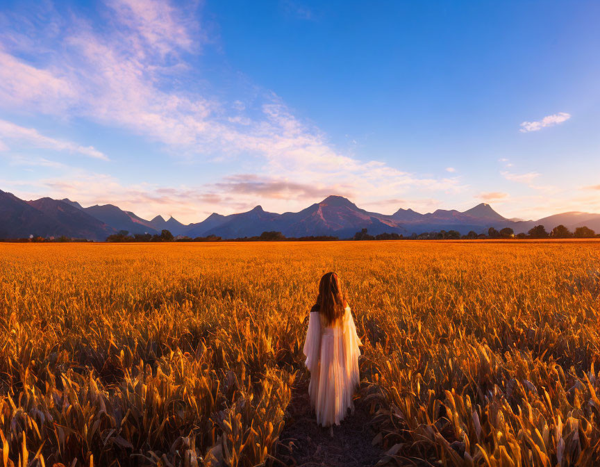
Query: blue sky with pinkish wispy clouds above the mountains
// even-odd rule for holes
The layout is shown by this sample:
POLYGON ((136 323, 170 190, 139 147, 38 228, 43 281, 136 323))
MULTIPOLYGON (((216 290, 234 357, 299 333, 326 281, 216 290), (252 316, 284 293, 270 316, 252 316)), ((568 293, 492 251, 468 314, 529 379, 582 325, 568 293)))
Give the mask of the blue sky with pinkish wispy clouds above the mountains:
POLYGON ((0 189, 600 212, 596 1, 3 1, 0 189))

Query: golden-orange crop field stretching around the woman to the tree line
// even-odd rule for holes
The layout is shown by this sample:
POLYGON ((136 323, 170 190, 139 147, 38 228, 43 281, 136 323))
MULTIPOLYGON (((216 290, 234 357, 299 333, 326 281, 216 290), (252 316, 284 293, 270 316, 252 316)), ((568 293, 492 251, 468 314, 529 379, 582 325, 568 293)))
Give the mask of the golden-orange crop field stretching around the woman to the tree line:
POLYGON ((0 244, 0 464, 278 465, 329 270, 382 464, 600 465, 600 243, 517 241, 0 244))

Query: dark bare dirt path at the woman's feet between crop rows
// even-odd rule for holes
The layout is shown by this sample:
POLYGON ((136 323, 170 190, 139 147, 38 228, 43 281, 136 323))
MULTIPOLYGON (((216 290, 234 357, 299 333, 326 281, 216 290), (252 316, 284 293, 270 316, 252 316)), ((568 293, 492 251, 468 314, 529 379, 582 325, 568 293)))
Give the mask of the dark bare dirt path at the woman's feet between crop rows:
MULTIPOLYGON (((279 439, 277 459, 286 466, 297 467, 372 467, 383 451, 372 445, 376 432, 369 426, 371 416, 362 400, 355 400, 355 411, 342 424, 333 427, 333 438, 328 428, 319 427, 315 413, 310 409, 308 378, 297 376, 288 405, 286 423, 279 439)), ((281 465, 281 464, 280 464, 281 465)))

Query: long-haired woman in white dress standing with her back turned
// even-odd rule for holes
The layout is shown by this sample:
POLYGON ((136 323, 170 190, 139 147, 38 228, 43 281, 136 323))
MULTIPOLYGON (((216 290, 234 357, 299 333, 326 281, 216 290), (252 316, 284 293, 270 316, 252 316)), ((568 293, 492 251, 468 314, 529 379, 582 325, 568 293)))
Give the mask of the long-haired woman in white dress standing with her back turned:
POLYGON ((310 371, 310 403, 319 425, 340 425, 348 409, 353 410, 352 395, 360 381, 359 345, 362 343, 340 279, 335 272, 328 272, 319 283, 304 343, 305 364, 310 371))

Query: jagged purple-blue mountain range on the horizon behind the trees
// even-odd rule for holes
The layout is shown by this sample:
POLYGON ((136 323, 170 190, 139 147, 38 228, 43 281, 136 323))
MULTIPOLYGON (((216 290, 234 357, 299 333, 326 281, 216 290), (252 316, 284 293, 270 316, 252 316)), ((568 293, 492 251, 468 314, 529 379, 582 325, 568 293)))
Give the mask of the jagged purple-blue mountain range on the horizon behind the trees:
POLYGON ((489 204, 478 204, 467 211, 438 209, 421 214, 412 209, 399 209, 391 215, 365 211, 349 199, 328 196, 297 213, 269 213, 261 206, 231 215, 213 213, 202 222, 182 224, 160 215, 152 220, 123 211, 112 204, 84 208, 70 199, 41 198, 24 201, 0 190, 0 238, 28 236, 67 236, 105 240, 107 236, 126 230, 135 233, 160 233, 163 229, 175 236, 191 238, 215 235, 221 238, 260 236, 263 231, 280 231, 286 237, 338 236, 351 238, 361 229, 370 234, 399 233, 408 236, 440 230, 487 232, 494 227, 511 227, 515 233, 526 232, 542 224, 548 231, 563 224, 571 230, 583 225, 600 231, 600 214, 561 213, 540 220, 515 221, 503 218, 489 204))

